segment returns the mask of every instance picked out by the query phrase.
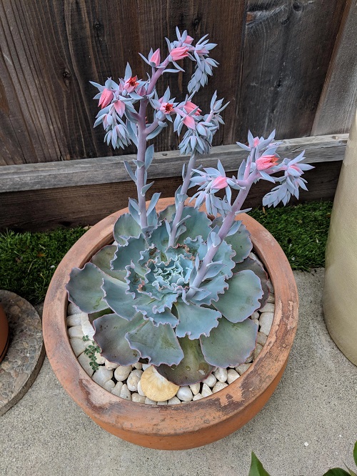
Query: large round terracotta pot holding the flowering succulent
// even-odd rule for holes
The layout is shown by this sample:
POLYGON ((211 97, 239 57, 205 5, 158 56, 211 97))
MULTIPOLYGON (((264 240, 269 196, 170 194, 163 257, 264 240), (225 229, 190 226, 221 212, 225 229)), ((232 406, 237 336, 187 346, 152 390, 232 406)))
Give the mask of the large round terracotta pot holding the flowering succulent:
MULTIPOLYGON (((158 209, 173 203, 159 200, 158 209)), ((144 405, 123 400, 97 385, 79 365, 66 329, 64 288, 72 267, 82 267, 113 241, 111 214, 89 229, 56 269, 44 303, 44 342, 51 366, 65 390, 104 430, 123 440, 160 450, 185 450, 219 440, 246 424, 265 405, 286 367, 298 321, 298 294, 291 267, 271 234, 247 215, 240 219, 251 232, 253 246, 271 277, 276 310, 266 344, 253 365, 219 392, 185 405, 144 405)))

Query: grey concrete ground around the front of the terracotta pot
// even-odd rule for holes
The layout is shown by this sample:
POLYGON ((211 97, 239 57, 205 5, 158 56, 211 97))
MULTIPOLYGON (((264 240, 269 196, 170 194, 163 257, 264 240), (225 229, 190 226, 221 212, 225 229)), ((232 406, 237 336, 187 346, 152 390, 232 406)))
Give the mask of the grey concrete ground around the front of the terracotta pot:
POLYGON ((271 476, 355 469, 357 367, 328 335, 323 269, 295 272, 300 321, 283 378, 251 422, 186 451, 136 447, 98 427, 71 400, 45 359, 24 398, 0 417, 1 476, 248 476, 251 451, 271 476))

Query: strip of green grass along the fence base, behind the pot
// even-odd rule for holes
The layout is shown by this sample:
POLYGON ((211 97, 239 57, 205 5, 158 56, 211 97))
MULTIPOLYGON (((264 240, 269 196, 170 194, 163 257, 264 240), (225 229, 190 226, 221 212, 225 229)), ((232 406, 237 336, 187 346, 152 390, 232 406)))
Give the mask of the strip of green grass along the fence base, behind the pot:
MULTIPOLYGON (((250 214, 281 244, 293 269, 323 267, 331 202, 296 207, 253 209, 250 214)), ((83 228, 45 233, 0 234, 0 289, 8 289, 32 304, 44 300, 54 270, 83 228)))

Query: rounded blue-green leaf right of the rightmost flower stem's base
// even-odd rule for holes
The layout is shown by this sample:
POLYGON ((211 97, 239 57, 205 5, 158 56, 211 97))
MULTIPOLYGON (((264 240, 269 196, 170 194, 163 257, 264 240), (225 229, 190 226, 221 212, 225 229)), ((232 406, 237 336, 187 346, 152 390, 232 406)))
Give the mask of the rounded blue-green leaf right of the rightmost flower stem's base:
POLYGON ((259 299, 263 297, 261 280, 246 269, 228 279, 228 289, 213 302, 219 312, 230 322, 242 322, 261 307, 259 299))

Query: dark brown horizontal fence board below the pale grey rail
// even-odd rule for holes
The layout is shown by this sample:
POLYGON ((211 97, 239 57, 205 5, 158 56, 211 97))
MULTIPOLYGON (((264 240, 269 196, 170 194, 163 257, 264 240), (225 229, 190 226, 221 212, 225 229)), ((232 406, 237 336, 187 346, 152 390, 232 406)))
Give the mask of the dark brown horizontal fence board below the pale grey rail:
MULTIPOLYGON (((308 192, 301 192, 299 202, 333 200, 341 161, 321 162, 308 171, 308 192)), ((157 179, 151 192, 162 192, 162 197, 174 197, 181 177, 157 179)), ((272 184, 258 182, 252 187, 246 207, 259 207, 263 195, 272 184)), ((110 213, 128 204, 129 197, 136 196, 132 182, 83 185, 0 194, 0 231, 45 231, 56 227, 96 224, 110 213)), ((296 203, 296 200, 291 200, 296 203)))

